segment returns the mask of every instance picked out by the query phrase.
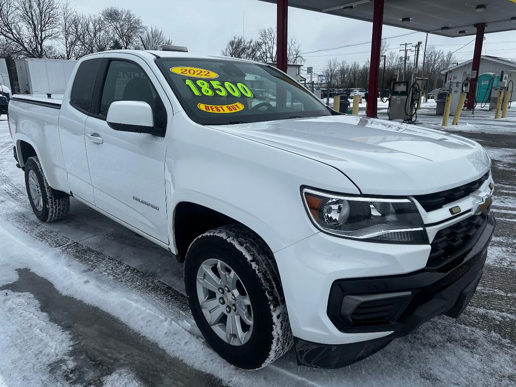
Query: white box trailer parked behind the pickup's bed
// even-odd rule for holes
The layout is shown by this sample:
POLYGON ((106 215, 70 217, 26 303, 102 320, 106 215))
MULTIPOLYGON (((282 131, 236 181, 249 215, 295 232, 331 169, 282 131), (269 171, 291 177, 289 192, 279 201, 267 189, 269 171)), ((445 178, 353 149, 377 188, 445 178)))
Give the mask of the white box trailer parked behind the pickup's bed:
POLYGON ((23 58, 15 63, 21 94, 63 94, 77 61, 23 58))

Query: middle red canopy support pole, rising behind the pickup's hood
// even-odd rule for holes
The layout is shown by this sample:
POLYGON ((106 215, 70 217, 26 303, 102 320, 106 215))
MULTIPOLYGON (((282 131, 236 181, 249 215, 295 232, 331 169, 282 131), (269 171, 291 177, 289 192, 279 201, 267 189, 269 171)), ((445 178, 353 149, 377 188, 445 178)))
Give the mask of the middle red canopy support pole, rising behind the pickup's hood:
POLYGON ((383 2, 374 0, 373 37, 371 39, 371 60, 367 97, 367 117, 376 117, 378 107, 378 78, 380 77, 380 46, 382 43, 383 2))

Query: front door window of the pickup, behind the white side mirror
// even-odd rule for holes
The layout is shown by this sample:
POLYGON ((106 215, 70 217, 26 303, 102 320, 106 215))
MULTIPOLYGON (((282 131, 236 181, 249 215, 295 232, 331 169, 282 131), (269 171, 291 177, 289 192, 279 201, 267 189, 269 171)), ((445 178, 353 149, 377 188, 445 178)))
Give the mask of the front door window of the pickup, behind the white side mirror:
POLYGON ((142 101, 152 108, 154 126, 166 128, 167 112, 147 74, 135 63, 112 60, 109 63, 99 114, 107 116, 111 103, 115 101, 142 101))

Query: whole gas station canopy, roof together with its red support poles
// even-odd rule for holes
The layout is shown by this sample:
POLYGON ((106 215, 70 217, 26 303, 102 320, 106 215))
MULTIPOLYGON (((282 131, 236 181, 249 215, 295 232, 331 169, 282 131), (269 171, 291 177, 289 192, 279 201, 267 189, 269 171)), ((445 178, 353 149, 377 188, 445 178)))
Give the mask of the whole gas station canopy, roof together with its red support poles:
MULTIPOLYGON (((373 23, 369 61, 369 95, 378 91, 382 26, 407 28, 449 38, 475 35, 468 108, 473 108, 486 33, 516 29, 516 0, 260 0, 277 5, 277 67, 287 68, 288 6, 373 23)), ((328 87, 329 89, 329 87, 328 87)), ((367 103, 367 117, 376 117, 377 99, 367 103)))

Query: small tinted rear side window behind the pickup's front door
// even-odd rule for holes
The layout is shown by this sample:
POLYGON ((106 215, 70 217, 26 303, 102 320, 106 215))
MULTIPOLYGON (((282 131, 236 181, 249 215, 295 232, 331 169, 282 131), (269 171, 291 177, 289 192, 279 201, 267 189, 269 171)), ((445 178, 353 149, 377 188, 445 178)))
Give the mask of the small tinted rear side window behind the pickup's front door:
POLYGON ((70 104, 86 114, 91 109, 93 88, 101 61, 102 58, 96 58, 81 62, 73 79, 70 104))

